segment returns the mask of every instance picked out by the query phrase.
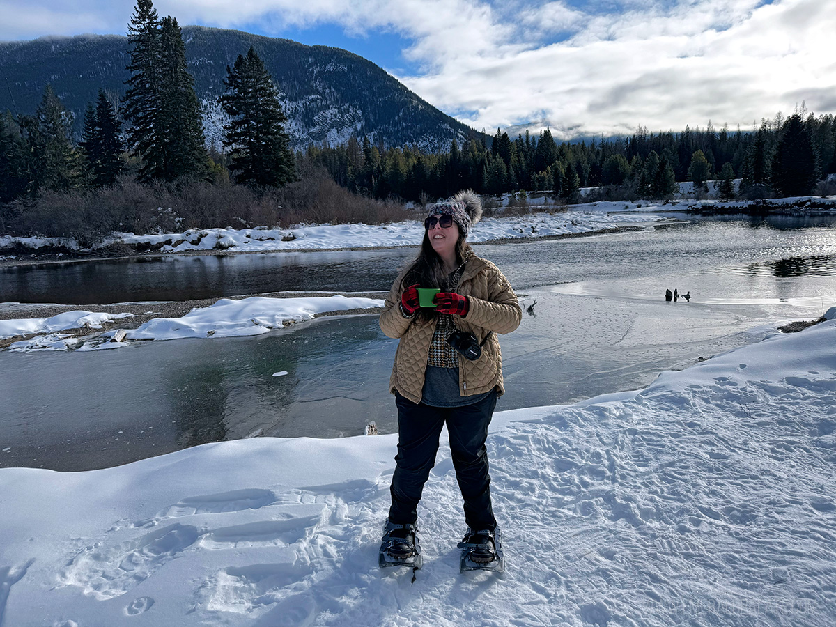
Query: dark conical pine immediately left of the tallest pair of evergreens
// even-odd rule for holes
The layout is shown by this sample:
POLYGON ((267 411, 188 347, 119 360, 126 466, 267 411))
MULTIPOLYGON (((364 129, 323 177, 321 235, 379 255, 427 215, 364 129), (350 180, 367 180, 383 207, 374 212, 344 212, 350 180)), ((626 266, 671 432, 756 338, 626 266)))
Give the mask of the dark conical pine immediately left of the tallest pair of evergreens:
POLYGON ((99 89, 96 105, 89 104, 84 115, 84 135, 81 141, 95 187, 112 186, 120 175, 120 155, 125 150, 120 139, 121 127, 113 106, 104 91, 99 89))

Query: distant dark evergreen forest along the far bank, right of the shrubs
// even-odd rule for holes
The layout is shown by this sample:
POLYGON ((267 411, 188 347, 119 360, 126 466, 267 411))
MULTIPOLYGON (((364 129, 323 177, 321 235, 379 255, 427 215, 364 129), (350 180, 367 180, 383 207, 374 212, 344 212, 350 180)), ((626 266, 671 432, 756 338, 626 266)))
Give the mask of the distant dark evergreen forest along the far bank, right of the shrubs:
POLYGON ((717 180, 719 196, 753 199, 812 193, 823 176, 836 172, 834 149, 833 115, 816 117, 802 109, 762 120, 757 132, 747 133, 709 123, 676 134, 645 127, 626 138, 558 144, 549 129, 514 140, 497 129, 490 145, 453 140, 450 150, 431 154, 351 138, 345 145, 309 146, 298 158, 324 166, 340 185, 377 198, 418 201, 472 188, 482 194, 546 191, 574 201, 581 187, 601 187, 612 199, 667 198, 677 181, 692 181, 700 195, 708 191, 707 181, 717 180))

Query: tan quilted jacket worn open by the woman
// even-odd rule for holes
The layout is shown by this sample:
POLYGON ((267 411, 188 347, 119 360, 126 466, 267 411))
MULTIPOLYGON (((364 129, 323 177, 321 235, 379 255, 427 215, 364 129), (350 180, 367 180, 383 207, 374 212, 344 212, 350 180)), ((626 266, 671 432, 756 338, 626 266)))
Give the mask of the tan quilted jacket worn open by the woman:
MULTIPOLYGON (((400 339, 389 381, 390 392, 395 394, 398 391, 413 403, 420 403, 426 360, 437 319, 422 322, 420 319, 406 319, 400 314, 400 280, 405 272, 395 279, 386 297, 383 313, 380 314, 380 329, 390 338, 400 339)), ((453 316, 456 329, 476 335, 480 344, 489 332, 494 332, 482 346, 479 359, 470 361, 458 356, 459 391, 462 396, 473 396, 497 388, 502 395, 505 388, 502 385, 502 353, 497 334, 511 333, 523 319, 517 295, 499 268, 476 255, 465 263, 456 292, 466 296, 470 302, 465 318, 453 316)))

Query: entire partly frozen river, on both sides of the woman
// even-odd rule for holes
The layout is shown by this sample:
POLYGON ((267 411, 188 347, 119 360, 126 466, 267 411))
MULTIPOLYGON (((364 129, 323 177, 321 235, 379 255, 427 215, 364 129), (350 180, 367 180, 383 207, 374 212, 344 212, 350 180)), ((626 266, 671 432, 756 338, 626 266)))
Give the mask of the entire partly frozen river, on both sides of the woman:
MULTIPOLYGON (((818 317, 836 304, 834 224, 832 218, 698 221, 477 245, 507 274, 524 308, 537 301, 533 315, 524 314, 520 328, 501 338, 507 394, 497 410, 640 388, 661 370, 756 341, 777 320, 818 317), (693 298, 667 303, 667 288, 693 298)), ((62 303, 97 302, 91 295, 116 302, 382 290, 414 254, 168 257, 6 269, 0 288, 8 301, 62 303)), ((367 421, 395 431, 386 389, 395 346, 375 316, 359 316, 256 338, 98 353, 3 352, 0 466, 89 469, 247 436, 356 435, 367 421), (283 370, 288 375, 273 377, 283 370)))

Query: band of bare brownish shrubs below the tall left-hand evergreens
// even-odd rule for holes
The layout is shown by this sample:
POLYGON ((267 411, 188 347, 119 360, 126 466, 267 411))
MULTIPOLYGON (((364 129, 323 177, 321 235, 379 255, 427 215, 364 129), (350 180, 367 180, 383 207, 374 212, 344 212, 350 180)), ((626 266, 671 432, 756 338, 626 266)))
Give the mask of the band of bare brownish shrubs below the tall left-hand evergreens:
POLYGON ((415 219, 403 203, 357 196, 324 170, 305 173, 281 189, 206 181, 143 185, 122 178, 116 186, 91 190, 44 191, 3 207, 3 231, 21 237, 73 237, 92 247, 112 232, 181 232, 187 228, 290 227, 298 223, 415 219))

